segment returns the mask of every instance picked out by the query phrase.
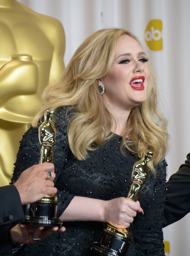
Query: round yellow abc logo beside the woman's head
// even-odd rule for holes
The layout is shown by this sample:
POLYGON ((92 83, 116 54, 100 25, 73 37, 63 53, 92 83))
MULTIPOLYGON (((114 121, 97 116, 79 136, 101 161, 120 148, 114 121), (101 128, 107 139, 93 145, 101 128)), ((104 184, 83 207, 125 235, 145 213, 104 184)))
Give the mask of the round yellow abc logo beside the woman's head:
POLYGON ((150 50, 161 51, 163 49, 162 21, 160 19, 152 19, 149 22, 144 32, 144 39, 150 50))

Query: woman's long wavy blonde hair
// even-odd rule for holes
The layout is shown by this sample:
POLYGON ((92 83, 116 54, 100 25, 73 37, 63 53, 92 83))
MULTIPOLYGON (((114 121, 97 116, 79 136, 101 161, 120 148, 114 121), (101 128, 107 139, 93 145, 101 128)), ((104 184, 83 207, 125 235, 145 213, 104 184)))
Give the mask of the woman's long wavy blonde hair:
MULTIPOLYGON (((111 128, 116 122, 100 95, 98 79, 111 68, 121 35, 129 35, 141 45, 135 35, 125 29, 101 29, 91 34, 76 50, 59 79, 46 87, 42 106, 33 120, 35 127, 47 109, 55 110, 60 106, 75 109, 72 117, 68 116, 68 142, 79 160, 86 159, 88 151, 95 150, 112 136, 111 128)), ((140 158, 144 150, 152 151, 154 156, 149 167, 155 174, 153 166, 166 154, 168 134, 166 119, 158 111, 155 72, 150 64, 149 67, 147 99, 131 109, 121 151, 127 148, 140 158)))

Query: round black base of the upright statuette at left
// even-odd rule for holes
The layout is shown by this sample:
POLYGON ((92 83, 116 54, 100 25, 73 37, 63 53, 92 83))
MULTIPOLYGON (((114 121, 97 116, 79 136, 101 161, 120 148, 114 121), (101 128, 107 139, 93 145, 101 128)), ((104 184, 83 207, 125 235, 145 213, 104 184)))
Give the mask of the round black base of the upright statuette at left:
POLYGON ((56 196, 44 196, 35 203, 27 204, 25 219, 22 224, 62 227, 63 222, 56 218, 57 204, 56 196))

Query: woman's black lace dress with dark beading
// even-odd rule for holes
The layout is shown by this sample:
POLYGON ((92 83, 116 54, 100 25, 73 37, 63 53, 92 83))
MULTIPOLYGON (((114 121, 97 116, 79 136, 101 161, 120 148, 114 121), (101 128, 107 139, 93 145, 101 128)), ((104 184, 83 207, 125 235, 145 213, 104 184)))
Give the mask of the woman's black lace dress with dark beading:
MULTIPOLYGON (((98 150, 89 153, 85 161, 78 161, 68 147, 68 122, 64 108, 57 111, 54 121, 57 129, 53 161, 59 201, 57 216, 63 213, 75 195, 102 200, 126 197, 131 184, 133 164, 139 159, 127 150, 125 156, 120 152, 121 137, 115 135, 98 150)), ((19 147, 12 182, 17 180, 26 168, 39 163, 40 149, 38 129, 30 127, 23 135, 19 147)), ((160 162, 155 169, 156 179, 150 172, 139 197, 144 215, 138 213, 128 229, 133 233, 128 256, 164 255, 162 218, 165 200, 165 161, 160 162)), ((64 226, 65 232, 54 233, 36 244, 26 245, 19 255, 90 256, 92 243, 100 242, 105 224, 71 221, 64 222, 64 226)))

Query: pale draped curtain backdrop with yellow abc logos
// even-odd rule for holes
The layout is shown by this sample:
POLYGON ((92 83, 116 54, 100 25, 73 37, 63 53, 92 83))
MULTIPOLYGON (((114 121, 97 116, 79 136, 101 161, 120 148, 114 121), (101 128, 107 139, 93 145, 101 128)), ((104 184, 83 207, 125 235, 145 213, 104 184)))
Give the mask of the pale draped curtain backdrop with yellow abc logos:
MULTIPOLYGON (((144 45, 159 81, 168 115, 167 179, 190 152, 190 0, 19 0, 59 19, 65 29, 68 64, 89 34, 106 27, 133 32, 144 45)), ((190 214, 164 229, 166 255, 190 255, 190 214)))

